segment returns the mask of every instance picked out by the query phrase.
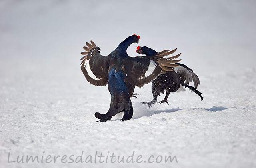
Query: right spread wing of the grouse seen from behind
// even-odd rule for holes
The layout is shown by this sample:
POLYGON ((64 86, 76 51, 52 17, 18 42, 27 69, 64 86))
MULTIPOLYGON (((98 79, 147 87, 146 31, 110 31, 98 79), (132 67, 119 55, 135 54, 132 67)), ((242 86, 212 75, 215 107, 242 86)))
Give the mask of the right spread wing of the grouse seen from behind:
POLYGON ((124 61, 124 69, 130 83, 134 83, 136 86, 141 87, 144 84, 148 84, 152 80, 155 80, 162 71, 172 71, 173 67, 178 66, 174 64, 180 60, 173 60, 178 58, 180 54, 163 58, 173 52, 170 50, 164 50, 152 56, 137 56, 128 57, 124 61))

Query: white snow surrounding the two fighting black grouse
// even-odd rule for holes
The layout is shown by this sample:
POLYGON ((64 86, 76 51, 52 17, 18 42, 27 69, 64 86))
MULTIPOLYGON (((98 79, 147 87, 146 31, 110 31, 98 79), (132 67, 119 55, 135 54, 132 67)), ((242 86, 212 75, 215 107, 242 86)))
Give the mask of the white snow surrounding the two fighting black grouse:
POLYGON ((1 0, 0 167, 255 168, 255 8, 254 0, 1 0), (110 94, 80 72, 82 47, 93 40, 108 55, 132 34, 140 42, 129 56, 138 56, 137 46, 178 48, 204 100, 186 90, 149 109, 140 104, 152 100, 148 84, 135 89, 131 120, 96 122, 110 94), (96 151, 104 163, 85 163, 96 151), (82 152, 83 163, 25 159, 82 152), (113 153, 126 160, 133 152, 135 163, 106 163, 113 153), (165 163, 166 155, 178 163, 165 163))

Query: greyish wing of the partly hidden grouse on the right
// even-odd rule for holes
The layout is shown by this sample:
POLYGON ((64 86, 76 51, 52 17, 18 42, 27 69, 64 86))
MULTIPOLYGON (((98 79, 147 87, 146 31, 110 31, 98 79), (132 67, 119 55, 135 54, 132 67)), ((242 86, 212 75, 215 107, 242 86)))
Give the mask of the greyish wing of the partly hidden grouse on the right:
POLYGON ((175 67, 175 71, 177 72, 180 80, 182 82, 186 81, 185 84, 189 84, 190 82, 193 81, 195 88, 197 88, 197 86, 200 84, 200 80, 196 75, 196 73, 184 64, 180 64, 180 63, 176 63, 176 64, 179 65, 175 67))

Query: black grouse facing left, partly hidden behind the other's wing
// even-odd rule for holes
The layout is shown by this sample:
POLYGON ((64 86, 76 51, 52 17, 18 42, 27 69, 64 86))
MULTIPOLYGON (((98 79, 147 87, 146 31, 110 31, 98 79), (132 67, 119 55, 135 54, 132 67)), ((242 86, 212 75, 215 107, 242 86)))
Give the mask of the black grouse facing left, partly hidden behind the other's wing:
MULTIPOLYGON (((177 49, 177 48, 176 48, 177 49)), ((175 50, 176 50, 175 49, 175 50)), ((136 50, 139 54, 146 54, 148 56, 154 55, 157 52, 151 48, 148 48, 146 46, 144 47, 137 47, 136 50)), ((203 97, 201 96, 202 93, 196 90, 197 86, 200 84, 199 78, 196 75, 196 73, 193 72, 192 69, 188 68, 184 64, 175 63, 179 66, 174 68, 174 71, 169 71, 164 74, 160 74, 158 78, 156 78, 154 81, 152 81, 152 93, 153 93, 153 100, 150 102, 142 102, 142 104, 147 104, 148 107, 151 107, 152 104, 156 103, 157 96, 160 96, 160 93, 164 93, 164 90, 166 90, 166 95, 164 100, 158 102, 158 103, 164 103, 167 102, 167 98, 171 92, 176 92, 181 86, 185 86, 190 88, 193 92, 195 92, 198 96, 200 96, 201 100, 203 100, 203 97), (186 82, 185 82, 186 81, 186 82), (189 86, 189 82, 193 81, 194 86, 189 86), (184 83, 185 82, 185 83, 184 83)))

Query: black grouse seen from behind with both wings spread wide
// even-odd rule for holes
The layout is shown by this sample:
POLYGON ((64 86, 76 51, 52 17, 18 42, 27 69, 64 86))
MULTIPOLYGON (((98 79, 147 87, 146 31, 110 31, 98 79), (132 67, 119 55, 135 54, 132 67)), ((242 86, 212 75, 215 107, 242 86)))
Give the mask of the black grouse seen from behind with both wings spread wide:
POLYGON ((152 56, 129 57, 126 50, 132 43, 138 43, 140 36, 132 35, 121 42, 118 47, 108 56, 100 54, 100 48, 91 41, 86 42, 84 47, 86 52, 81 58, 81 71, 86 80, 96 86, 108 84, 111 94, 111 103, 106 114, 95 113, 95 117, 101 122, 110 120, 112 116, 119 112, 124 112, 122 121, 129 120, 133 115, 131 96, 135 85, 138 87, 148 84, 156 79, 162 70, 170 71, 172 67, 178 66, 174 63, 180 60, 172 60, 177 56, 163 58, 170 55, 173 51, 164 50, 152 56))

